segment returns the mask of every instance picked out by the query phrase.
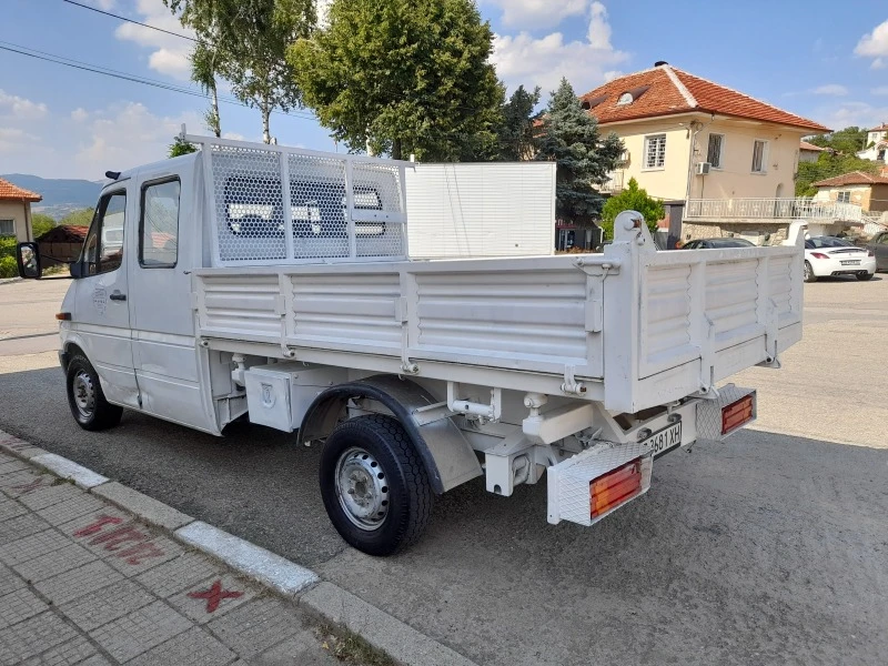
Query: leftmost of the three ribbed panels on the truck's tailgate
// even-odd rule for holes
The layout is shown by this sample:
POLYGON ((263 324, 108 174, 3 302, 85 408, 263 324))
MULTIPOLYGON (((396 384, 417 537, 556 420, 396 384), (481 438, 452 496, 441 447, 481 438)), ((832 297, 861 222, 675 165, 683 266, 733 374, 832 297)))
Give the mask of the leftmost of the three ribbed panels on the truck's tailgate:
MULTIPOLYGON (((674 357, 675 365, 684 361, 676 355, 688 352, 690 344, 690 266, 687 264, 650 266, 646 276, 646 293, 642 322, 642 376, 645 369, 659 366, 674 357)), ((656 370, 654 370, 656 372, 656 370)))

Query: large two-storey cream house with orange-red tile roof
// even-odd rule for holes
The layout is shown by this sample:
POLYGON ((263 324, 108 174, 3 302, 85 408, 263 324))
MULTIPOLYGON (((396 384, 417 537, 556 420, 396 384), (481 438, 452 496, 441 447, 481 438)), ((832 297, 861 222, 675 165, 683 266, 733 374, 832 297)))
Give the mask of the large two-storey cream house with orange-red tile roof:
POLYGON ((794 209, 778 202, 795 200, 801 138, 830 131, 666 62, 616 78, 581 102, 626 148, 604 192, 635 178, 667 203, 673 242, 729 234, 779 240, 794 209))

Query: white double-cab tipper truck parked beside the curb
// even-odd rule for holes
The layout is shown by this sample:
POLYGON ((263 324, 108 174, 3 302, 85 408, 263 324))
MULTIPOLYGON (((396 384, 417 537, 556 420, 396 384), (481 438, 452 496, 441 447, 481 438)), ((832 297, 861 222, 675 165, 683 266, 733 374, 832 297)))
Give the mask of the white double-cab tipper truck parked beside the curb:
MULTIPOLYGON (((545 472, 548 522, 592 525, 657 456, 751 422, 755 392, 719 383, 801 337, 801 225, 657 252, 629 211, 604 254, 411 261, 410 163, 184 138, 109 174, 58 315, 71 412, 323 446, 327 514, 365 553, 476 477, 509 496, 545 472)), ((38 256, 20 245, 24 275, 38 256)))

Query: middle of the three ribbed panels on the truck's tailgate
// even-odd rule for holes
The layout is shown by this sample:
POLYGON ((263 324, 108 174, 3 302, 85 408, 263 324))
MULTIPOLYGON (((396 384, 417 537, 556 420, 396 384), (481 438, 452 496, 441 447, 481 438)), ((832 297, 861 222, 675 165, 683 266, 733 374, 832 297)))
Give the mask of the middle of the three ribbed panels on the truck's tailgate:
POLYGON ((758 325, 758 260, 706 265, 706 316, 715 325, 716 349, 764 334, 758 325))

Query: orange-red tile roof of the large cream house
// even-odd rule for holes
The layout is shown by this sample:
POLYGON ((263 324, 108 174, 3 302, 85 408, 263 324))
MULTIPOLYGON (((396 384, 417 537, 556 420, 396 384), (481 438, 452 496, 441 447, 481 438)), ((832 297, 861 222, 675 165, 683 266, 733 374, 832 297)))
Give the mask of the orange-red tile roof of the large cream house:
POLYGON ((581 100, 588 102, 589 113, 602 124, 697 111, 829 132, 813 120, 668 64, 614 79, 582 95, 581 100), (632 92, 635 100, 618 104, 626 92, 632 92))

